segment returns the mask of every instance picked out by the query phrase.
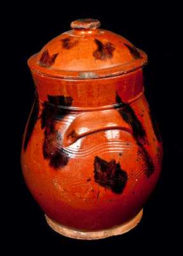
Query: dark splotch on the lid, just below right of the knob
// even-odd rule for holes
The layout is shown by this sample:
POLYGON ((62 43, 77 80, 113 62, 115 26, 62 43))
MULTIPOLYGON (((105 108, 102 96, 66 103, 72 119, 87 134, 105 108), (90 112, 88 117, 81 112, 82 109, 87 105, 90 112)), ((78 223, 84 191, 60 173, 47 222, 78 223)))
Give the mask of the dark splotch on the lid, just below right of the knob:
POLYGON ((113 51, 115 50, 115 47, 110 42, 101 42, 98 39, 94 39, 94 42, 98 46, 98 49, 93 52, 94 58, 96 60, 108 60, 113 57, 113 51))

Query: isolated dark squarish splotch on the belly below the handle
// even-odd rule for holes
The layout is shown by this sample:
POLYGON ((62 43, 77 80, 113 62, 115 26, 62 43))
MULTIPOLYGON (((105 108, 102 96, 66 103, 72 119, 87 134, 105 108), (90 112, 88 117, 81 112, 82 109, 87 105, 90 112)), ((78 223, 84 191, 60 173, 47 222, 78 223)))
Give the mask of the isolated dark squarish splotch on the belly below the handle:
POLYGON ((114 193, 122 193, 128 175, 121 169, 120 164, 115 162, 115 159, 107 162, 96 156, 94 159, 94 180, 99 185, 112 189, 114 193))

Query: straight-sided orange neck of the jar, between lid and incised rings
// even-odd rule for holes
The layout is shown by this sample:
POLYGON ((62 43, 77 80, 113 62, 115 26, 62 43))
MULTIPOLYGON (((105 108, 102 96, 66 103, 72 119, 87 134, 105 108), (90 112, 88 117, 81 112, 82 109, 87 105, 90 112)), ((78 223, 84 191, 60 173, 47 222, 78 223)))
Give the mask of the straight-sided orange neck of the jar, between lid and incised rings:
POLYGON ((36 94, 41 102, 74 108, 99 108, 131 102, 143 93, 143 72, 103 79, 57 79, 33 72, 36 94))

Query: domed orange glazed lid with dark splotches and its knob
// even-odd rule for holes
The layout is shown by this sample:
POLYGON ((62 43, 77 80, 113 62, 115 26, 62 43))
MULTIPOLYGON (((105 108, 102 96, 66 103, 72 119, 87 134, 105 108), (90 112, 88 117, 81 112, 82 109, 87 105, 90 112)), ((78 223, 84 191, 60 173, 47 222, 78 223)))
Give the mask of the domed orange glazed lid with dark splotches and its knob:
POLYGON ((99 29, 99 20, 78 19, 72 30, 48 42, 28 65, 44 76, 96 79, 126 74, 147 63, 147 55, 126 38, 99 29))

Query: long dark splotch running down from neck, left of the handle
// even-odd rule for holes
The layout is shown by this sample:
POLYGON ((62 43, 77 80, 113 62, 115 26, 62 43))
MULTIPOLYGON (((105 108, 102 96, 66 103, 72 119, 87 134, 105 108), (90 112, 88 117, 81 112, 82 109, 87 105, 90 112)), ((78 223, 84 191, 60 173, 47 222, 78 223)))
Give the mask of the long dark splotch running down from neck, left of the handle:
POLYGON ((55 128, 55 116, 61 120, 68 115, 68 110, 59 108, 59 106, 71 106, 72 102, 71 97, 48 95, 48 101, 43 103, 41 113, 41 129, 45 129, 43 157, 50 160, 50 166, 55 169, 65 166, 69 160, 68 154, 61 148, 62 135, 55 128))

